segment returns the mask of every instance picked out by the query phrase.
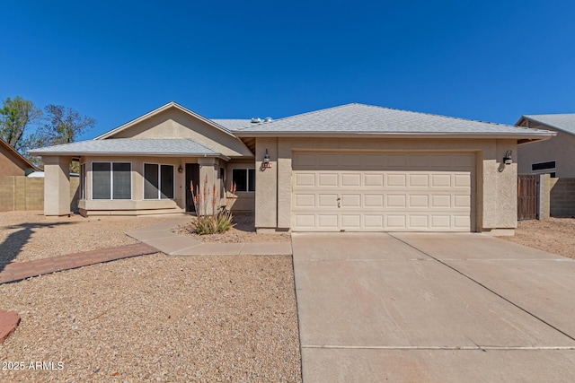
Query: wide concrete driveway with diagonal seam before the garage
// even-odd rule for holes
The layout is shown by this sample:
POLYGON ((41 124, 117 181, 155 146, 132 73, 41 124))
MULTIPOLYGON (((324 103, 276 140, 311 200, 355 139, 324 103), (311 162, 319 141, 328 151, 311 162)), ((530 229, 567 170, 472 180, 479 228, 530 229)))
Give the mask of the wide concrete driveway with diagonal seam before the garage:
POLYGON ((481 234, 292 242, 305 382, 575 380, 571 259, 481 234))

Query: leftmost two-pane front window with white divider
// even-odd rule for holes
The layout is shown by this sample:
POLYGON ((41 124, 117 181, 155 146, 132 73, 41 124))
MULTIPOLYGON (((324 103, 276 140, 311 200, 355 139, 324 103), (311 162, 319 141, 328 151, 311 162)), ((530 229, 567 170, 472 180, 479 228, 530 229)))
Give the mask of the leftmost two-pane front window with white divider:
POLYGON ((130 162, 92 162, 92 199, 130 199, 130 162))

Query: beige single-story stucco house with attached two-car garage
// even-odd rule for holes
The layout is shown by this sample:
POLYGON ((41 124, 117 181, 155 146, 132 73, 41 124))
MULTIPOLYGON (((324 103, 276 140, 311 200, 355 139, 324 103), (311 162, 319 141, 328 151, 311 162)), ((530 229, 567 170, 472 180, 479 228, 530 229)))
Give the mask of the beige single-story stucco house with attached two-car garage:
POLYGON ((258 231, 481 231, 517 226, 517 144, 552 132, 349 104, 271 120, 208 119, 175 102, 91 141, 31 151, 45 214, 192 212, 190 182, 234 183, 258 231), (509 162, 509 161, 508 161, 509 162))

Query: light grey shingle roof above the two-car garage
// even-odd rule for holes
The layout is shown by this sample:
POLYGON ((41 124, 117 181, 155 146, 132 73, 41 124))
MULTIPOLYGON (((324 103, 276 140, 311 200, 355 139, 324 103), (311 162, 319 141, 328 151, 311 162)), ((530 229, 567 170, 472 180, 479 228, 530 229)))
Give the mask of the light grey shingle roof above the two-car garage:
POLYGON ((466 137, 545 139, 553 132, 464 118, 347 104, 240 128, 235 135, 465 135, 466 137))

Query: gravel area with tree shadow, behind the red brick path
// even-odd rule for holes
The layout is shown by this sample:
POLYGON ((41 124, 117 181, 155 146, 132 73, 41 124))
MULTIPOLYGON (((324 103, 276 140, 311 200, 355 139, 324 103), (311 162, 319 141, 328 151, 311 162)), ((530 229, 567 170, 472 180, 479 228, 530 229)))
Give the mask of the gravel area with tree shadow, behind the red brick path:
POLYGON ((168 217, 45 217, 42 212, 0 213, 0 266, 137 243, 125 235, 168 217))

